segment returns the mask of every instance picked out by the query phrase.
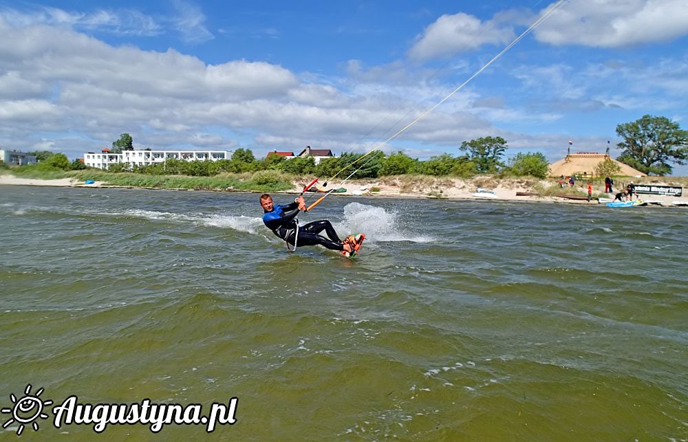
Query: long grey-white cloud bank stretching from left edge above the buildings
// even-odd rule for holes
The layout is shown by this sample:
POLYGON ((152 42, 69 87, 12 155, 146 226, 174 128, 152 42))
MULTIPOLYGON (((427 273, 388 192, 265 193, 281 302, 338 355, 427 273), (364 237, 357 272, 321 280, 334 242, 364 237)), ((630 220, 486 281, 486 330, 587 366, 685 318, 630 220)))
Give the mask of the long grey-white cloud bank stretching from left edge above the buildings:
MULTIPOLYGON (((402 76, 396 64, 374 74, 359 69, 374 82, 314 76, 304 82, 278 65, 206 65, 173 49, 113 47, 64 27, 14 27, 0 19, 0 33, 8 36, 0 40, 0 145, 25 148, 42 131, 53 133, 56 148, 72 157, 107 146, 124 132, 137 146, 152 148, 233 149, 233 137, 243 137, 252 140, 257 155, 261 146, 365 151, 453 89, 418 86, 408 74, 385 84, 385 69, 402 76)), ((383 150, 413 143, 434 144, 433 151, 493 135, 491 122, 471 111, 478 98, 465 88, 383 150)), ((508 109, 500 111, 506 115, 508 109)))

